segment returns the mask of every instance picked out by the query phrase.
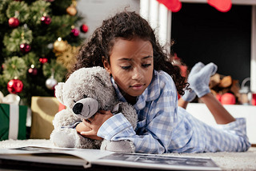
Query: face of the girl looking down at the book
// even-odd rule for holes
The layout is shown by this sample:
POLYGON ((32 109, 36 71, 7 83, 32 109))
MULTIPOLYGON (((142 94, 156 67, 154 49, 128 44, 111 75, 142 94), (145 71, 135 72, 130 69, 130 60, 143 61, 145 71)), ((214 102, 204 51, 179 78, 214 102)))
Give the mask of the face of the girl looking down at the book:
POLYGON ((149 41, 140 38, 118 38, 110 52, 110 63, 103 58, 103 64, 126 100, 134 101, 152 80, 153 47, 149 41))

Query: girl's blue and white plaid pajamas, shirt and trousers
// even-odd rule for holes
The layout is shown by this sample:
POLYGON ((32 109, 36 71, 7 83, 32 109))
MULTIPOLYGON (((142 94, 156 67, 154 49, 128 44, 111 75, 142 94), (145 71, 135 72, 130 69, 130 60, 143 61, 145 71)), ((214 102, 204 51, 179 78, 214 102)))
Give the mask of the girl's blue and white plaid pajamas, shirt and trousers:
MULTIPOLYGON (((126 101, 111 78, 120 101, 126 101)), ((246 151, 246 121, 216 127, 198 121, 178 107, 177 90, 170 75, 154 71, 150 85, 134 105, 138 125, 134 130, 122 113, 110 117, 98 130, 106 140, 130 140, 137 153, 202 153, 246 151)))

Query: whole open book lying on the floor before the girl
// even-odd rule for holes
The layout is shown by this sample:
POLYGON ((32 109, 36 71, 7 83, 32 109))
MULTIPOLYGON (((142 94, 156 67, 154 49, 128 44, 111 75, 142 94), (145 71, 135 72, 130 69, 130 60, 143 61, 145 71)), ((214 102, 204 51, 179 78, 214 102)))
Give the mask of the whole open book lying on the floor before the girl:
POLYGON ((73 170, 221 170, 208 157, 172 157, 159 154, 114 153, 100 149, 53 149, 42 146, 0 149, 0 163, 0 169, 16 165, 18 168, 33 166, 41 169, 73 170))

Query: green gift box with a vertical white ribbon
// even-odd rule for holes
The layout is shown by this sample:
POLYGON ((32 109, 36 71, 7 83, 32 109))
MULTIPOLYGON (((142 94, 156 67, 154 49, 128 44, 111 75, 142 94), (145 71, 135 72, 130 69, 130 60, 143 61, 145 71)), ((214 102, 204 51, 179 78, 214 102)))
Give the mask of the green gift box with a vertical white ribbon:
POLYGON ((0 141, 26 139, 27 106, 0 104, 0 141))

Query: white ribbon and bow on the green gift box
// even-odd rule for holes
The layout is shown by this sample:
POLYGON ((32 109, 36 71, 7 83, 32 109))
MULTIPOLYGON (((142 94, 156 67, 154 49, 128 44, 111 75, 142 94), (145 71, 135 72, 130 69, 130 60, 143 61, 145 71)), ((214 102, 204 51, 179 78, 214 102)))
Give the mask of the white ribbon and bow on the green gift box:
POLYGON ((14 140, 18 139, 19 101, 20 97, 18 95, 10 93, 5 97, 0 91, 0 103, 10 105, 8 138, 14 140))

